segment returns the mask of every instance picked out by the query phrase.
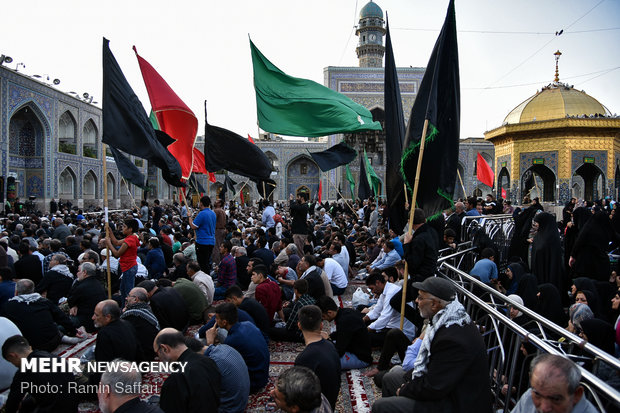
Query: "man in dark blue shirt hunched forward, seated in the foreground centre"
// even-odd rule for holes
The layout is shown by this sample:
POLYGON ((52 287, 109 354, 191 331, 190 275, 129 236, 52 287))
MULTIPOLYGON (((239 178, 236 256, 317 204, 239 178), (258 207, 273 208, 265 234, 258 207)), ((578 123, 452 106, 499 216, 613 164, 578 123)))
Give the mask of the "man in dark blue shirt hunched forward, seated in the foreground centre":
POLYGON ((238 322, 237 307, 222 303, 215 307, 217 324, 207 330, 207 345, 215 342, 217 328, 227 330, 224 344, 237 350, 250 375, 250 393, 260 391, 269 382, 269 349, 260 330, 249 321, 238 322))

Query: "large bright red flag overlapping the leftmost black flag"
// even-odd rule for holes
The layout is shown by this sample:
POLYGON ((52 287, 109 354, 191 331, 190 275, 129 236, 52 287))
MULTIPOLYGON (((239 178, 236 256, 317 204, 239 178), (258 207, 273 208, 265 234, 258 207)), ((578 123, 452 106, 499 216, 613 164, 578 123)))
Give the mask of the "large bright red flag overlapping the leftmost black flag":
POLYGON ((155 112, 159 127, 163 132, 176 140, 168 146, 168 150, 179 161, 183 172, 183 179, 189 179, 192 172, 192 148, 196 141, 198 119, 153 66, 138 55, 135 46, 133 50, 138 58, 142 78, 144 79, 151 107, 153 112, 155 112))

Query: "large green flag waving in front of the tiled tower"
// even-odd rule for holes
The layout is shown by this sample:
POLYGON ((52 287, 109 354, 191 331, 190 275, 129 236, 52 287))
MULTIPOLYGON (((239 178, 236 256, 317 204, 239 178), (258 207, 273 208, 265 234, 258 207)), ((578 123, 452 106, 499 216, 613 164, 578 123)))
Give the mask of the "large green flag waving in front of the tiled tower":
POLYGON ((254 46, 254 89, 258 126, 288 136, 327 136, 381 130, 365 107, 312 80, 287 75, 254 46))

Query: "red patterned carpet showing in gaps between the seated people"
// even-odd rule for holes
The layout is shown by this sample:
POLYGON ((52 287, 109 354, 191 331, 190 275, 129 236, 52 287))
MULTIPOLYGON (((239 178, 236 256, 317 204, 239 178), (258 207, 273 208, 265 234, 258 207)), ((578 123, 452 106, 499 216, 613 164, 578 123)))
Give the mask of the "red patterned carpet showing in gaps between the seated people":
MULTIPOLYGON (((360 286, 360 282, 351 281, 347 291, 342 296, 341 305, 351 306, 351 296, 353 291, 360 286)), ((332 326, 323 323, 323 328, 330 331, 332 326)), ((188 329, 187 334, 193 335, 198 326, 192 326, 188 329)), ((81 343, 67 346, 63 345, 58 348, 56 354, 61 357, 81 357, 85 352, 92 348, 96 337, 89 338, 81 343)), ((257 394, 250 395, 246 412, 266 412, 267 403, 270 401, 269 393, 273 389, 274 383, 280 373, 291 367, 297 355, 303 350, 304 345, 300 343, 271 342, 269 351, 271 354, 271 362, 269 366, 269 383, 265 389, 257 394)), ((379 359, 379 352, 373 353, 375 361, 379 359)), ((367 369, 351 370, 342 373, 340 394, 336 403, 336 411, 342 413, 365 413, 370 412, 374 401, 381 397, 381 389, 377 388, 372 379, 364 377, 362 373, 367 369)), ((145 374, 143 375, 143 383, 149 384, 145 386, 151 389, 161 389, 161 385, 167 378, 166 374, 145 374)), ((157 403, 159 400, 159 392, 144 393, 142 399, 151 403, 157 403)), ((95 402, 83 402, 80 404, 81 413, 99 412, 95 402)))

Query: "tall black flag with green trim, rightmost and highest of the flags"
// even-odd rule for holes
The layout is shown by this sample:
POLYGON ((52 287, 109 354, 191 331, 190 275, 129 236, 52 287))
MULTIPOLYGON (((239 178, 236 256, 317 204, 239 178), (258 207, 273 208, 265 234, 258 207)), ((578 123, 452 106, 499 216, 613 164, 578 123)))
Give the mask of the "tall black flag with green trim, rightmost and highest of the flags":
POLYGON ((460 95, 456 19, 454 0, 451 0, 411 110, 401 160, 403 178, 413 188, 422 130, 428 119, 417 193, 417 206, 424 209, 427 217, 453 205, 459 156, 460 95))

